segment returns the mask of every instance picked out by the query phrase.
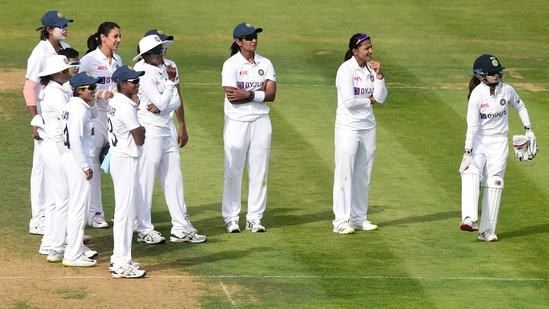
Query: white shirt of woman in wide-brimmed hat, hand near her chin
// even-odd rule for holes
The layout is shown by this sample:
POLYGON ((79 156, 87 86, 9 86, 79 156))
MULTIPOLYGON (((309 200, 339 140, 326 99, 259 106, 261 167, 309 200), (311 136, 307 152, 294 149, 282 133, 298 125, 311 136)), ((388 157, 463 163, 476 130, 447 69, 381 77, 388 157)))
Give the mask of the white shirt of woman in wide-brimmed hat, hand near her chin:
POLYGON ((165 67, 154 66, 143 60, 134 66, 136 71, 145 71, 139 83, 139 123, 147 129, 149 137, 172 136, 173 118, 171 112, 179 107, 179 94, 175 83, 168 79, 165 67), (160 114, 147 110, 147 105, 154 104, 160 114))

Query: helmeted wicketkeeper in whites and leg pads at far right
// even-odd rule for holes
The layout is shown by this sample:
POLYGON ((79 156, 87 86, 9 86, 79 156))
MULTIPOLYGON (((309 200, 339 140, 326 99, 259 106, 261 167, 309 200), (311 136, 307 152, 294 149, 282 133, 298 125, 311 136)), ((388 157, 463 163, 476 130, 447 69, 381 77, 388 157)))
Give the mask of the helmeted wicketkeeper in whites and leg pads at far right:
MULTIPOLYGON (((503 190, 509 145, 508 108, 514 108, 526 136, 535 144, 535 135, 524 102, 515 89, 503 82, 498 58, 484 54, 473 64, 469 82, 465 154, 461 174, 462 231, 478 231, 479 240, 498 241, 496 224, 503 190), (483 187, 482 215, 478 225, 479 185, 483 187)), ((534 153, 535 155, 535 153, 534 153)))

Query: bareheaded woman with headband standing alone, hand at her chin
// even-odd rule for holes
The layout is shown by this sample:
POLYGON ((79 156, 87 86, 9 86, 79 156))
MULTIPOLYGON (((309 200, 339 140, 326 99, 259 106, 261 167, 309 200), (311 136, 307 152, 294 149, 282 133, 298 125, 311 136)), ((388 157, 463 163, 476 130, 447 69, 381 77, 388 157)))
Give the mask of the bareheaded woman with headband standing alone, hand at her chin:
POLYGON ((387 98, 381 65, 372 60, 372 41, 357 33, 337 70, 333 231, 375 230, 368 220, 368 195, 376 151, 374 103, 387 98))

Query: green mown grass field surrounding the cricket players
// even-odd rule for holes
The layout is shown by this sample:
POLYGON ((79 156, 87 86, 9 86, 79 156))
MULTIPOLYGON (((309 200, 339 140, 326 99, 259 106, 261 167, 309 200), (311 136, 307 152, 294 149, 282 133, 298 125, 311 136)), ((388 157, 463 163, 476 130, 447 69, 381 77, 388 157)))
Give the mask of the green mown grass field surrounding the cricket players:
MULTIPOLYGON (((186 202, 194 225, 209 239, 203 245, 134 242, 134 258, 149 271, 142 282, 162 280, 155 270, 190 277, 198 282, 203 308, 549 306, 546 0, 35 3, 0 4, 0 73, 20 77, 0 79, 1 268, 13 267, 14 260, 56 268, 36 253, 39 237, 27 233, 33 144, 21 70, 38 41, 40 17, 59 9, 75 20, 67 42, 82 54, 87 37, 107 20, 122 28, 119 54, 126 64, 132 64, 147 30, 175 36, 167 58, 180 67, 190 135, 181 150, 186 202), (264 29, 258 53, 277 72, 264 234, 228 234, 221 217, 220 72, 233 27, 242 21, 264 29), (334 79, 357 32, 372 37, 389 90, 386 103, 375 107, 378 149, 369 219, 380 229, 340 236, 331 226, 334 79), (497 243, 458 229, 466 87, 472 63, 483 53, 494 53, 507 68, 505 81, 525 101, 540 148, 529 163, 510 153, 497 243)), ((509 119, 510 135, 522 134, 518 115, 512 111, 509 119)), ((103 177, 111 216, 112 181, 103 177)), ((169 234, 164 198, 160 189, 156 193, 153 222, 169 234)), ((104 269, 104 280, 113 281, 107 272, 112 229, 87 233, 102 256, 97 267, 104 269)), ((86 272, 69 273, 82 277, 86 290, 86 272)), ((30 286, 32 280, 0 277, 0 284, 30 286)), ((155 293, 162 297, 162 291, 155 293)), ((54 293, 52 301, 61 295, 54 293)), ((50 307, 47 301, 2 296, 11 300, 2 303, 8 308, 50 307)), ((92 297, 86 294, 76 304, 89 305, 92 297)), ((128 307, 140 307, 128 301, 128 307)))

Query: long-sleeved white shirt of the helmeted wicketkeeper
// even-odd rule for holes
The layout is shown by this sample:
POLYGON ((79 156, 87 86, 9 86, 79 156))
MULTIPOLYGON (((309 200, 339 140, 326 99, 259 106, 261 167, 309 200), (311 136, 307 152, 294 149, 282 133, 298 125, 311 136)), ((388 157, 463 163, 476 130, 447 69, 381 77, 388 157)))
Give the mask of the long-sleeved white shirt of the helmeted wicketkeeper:
POLYGON ((528 111, 512 86, 499 83, 494 89, 494 95, 490 95, 490 87, 484 83, 475 87, 467 107, 465 148, 473 148, 473 139, 477 135, 507 136, 509 105, 518 112, 522 123, 529 126, 528 111))

